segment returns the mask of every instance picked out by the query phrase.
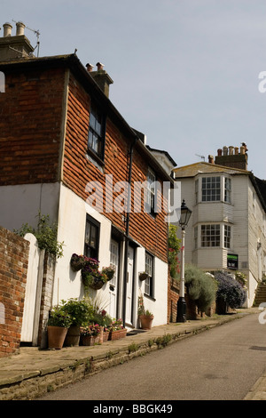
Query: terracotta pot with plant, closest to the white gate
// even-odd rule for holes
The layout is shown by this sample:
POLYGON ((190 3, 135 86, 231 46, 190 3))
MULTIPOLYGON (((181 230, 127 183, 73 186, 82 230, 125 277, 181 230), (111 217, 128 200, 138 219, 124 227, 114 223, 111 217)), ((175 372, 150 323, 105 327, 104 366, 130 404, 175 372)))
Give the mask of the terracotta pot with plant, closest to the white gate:
POLYGON ((49 349, 62 349, 67 330, 71 324, 71 316, 61 306, 55 306, 51 309, 47 323, 49 349))

